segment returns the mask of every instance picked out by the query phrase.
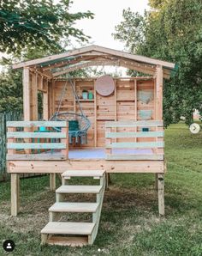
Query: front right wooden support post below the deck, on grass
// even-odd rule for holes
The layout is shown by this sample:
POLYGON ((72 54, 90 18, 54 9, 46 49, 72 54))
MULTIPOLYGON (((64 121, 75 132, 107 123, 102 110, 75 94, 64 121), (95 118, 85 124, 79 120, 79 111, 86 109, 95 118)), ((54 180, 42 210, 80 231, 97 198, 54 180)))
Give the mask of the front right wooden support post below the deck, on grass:
POLYGON ((164 174, 157 174, 157 194, 158 194, 158 213, 159 216, 164 216, 164 174))

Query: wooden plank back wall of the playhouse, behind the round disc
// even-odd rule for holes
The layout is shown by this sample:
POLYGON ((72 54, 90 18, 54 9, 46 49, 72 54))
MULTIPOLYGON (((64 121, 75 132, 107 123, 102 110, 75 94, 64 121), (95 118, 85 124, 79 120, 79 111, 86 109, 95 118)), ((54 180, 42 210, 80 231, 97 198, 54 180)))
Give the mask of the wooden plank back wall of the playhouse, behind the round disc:
MULTIPOLYGON (((94 79, 75 79, 74 86, 77 94, 80 97, 80 104, 84 113, 90 119, 92 126, 88 131, 88 143, 84 147, 104 147, 105 145, 105 122, 106 121, 122 121, 122 120, 141 120, 140 110, 152 110, 151 119, 156 119, 155 116, 155 100, 150 101, 148 104, 138 101, 137 95, 139 90, 153 91, 155 81, 153 78, 118 78, 115 79, 116 89, 113 94, 108 97, 103 97, 96 94, 94 90, 94 79), (82 100, 82 91, 87 90, 94 94, 93 100, 82 100)), ((55 98, 55 111, 57 110, 62 88, 66 81, 55 81, 54 95, 55 98)), ((153 97, 155 99, 155 95, 153 97)), ((74 94, 70 84, 67 85, 67 90, 64 93, 60 111, 73 111, 80 113, 78 104, 75 103, 74 94)), ((119 131, 135 131, 138 129, 122 128, 119 131)), ((117 138, 117 142, 128 142, 130 138, 117 138)), ((145 140, 144 137, 134 138, 134 142, 145 140)), ((148 141, 148 138, 147 138, 148 141)), ((153 138, 151 138, 153 141, 153 138)))

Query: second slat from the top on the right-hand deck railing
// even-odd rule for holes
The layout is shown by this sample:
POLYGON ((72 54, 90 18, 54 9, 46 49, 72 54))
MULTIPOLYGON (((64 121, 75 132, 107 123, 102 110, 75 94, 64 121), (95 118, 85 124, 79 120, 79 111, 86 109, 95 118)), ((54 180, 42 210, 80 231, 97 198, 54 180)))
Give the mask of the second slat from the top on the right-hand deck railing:
POLYGON ((106 132, 105 137, 163 137, 163 131, 106 132))

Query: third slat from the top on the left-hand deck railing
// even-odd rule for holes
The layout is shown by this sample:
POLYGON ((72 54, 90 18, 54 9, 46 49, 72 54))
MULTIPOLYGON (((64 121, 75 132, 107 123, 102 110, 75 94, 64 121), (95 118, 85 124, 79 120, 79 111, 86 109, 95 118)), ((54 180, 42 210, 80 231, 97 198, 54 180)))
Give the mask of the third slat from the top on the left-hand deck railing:
POLYGON ((7 143, 7 149, 66 149, 66 143, 7 143))

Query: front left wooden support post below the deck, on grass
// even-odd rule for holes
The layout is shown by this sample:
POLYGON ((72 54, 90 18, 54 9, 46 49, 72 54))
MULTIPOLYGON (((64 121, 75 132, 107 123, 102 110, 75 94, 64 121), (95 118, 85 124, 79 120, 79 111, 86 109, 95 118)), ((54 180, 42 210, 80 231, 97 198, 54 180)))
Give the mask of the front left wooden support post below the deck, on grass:
POLYGON ((20 208, 20 176, 19 174, 10 175, 11 185, 11 216, 17 216, 20 208))

